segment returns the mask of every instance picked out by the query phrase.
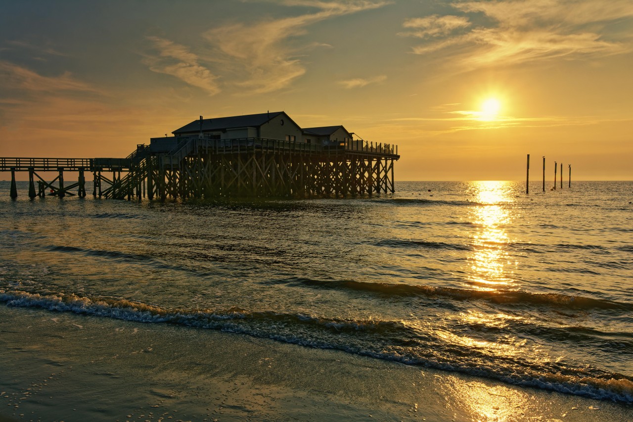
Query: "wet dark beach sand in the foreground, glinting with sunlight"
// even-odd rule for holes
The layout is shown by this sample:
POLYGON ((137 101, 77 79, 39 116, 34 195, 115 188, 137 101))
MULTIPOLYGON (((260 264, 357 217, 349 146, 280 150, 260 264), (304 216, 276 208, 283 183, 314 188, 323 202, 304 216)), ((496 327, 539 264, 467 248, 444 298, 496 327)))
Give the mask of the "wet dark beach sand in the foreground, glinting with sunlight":
POLYGON ((0 421, 629 421, 633 408, 336 350, 0 306, 0 421))

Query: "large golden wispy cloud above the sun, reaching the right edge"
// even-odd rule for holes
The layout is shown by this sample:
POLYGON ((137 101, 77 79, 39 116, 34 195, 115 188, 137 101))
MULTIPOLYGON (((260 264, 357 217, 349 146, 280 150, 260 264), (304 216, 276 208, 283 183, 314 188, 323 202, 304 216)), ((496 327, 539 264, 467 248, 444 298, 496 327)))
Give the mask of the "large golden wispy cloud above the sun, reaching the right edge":
POLYGON ((610 27, 633 18, 629 0, 466 1, 451 6, 470 18, 432 15, 404 21, 408 31, 400 35, 427 41, 413 46, 413 53, 460 47, 455 54, 462 65, 481 67, 563 56, 604 56, 625 53, 632 47, 630 34, 618 33, 616 25, 610 27), (484 23, 475 25, 475 20, 484 23))

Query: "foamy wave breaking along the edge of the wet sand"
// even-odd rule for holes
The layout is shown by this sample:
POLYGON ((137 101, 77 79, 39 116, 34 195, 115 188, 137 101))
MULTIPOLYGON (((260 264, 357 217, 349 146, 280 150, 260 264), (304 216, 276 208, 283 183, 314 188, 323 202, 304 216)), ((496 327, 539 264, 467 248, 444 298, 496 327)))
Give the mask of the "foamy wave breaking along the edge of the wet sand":
POLYGON ((272 310, 170 309, 134 300, 30 293, 0 289, 0 302, 16 307, 73 312, 141 323, 169 323, 219 329, 271 338, 307 347, 345 352, 486 376, 514 385, 633 403, 633 379, 591 366, 530 362, 521 355, 498 355, 468 348, 432 332, 420 332, 403 321, 329 319, 272 310))

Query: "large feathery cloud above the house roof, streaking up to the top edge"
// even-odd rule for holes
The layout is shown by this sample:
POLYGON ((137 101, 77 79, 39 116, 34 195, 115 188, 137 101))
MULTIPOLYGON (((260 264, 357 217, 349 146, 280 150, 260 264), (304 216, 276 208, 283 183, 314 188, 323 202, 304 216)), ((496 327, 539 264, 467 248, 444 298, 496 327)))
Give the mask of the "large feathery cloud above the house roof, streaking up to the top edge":
MULTIPOLYGON (((211 29, 204 37, 220 58, 237 65, 245 75, 235 82, 252 93, 269 93, 288 87, 306 73, 299 58, 309 46, 291 46, 289 40, 306 33, 306 27, 335 16, 380 8, 386 1, 280 0, 283 6, 315 8, 313 13, 256 23, 235 23, 211 29)), ((317 44, 318 45, 318 44, 317 44)))

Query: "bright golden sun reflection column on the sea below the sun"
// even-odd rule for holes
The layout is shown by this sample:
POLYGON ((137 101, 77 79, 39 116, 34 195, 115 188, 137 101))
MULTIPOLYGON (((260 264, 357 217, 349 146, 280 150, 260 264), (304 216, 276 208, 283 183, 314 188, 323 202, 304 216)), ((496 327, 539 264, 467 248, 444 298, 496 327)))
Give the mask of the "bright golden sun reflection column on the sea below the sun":
POLYGON ((509 182, 471 182, 470 192, 480 205, 471 211, 477 229, 472 234, 472 253, 468 256, 473 271, 468 278, 468 287, 487 291, 508 288, 513 285, 506 270, 506 265, 510 264, 506 250, 510 239, 503 226, 511 221, 506 207, 513 201, 509 182))

